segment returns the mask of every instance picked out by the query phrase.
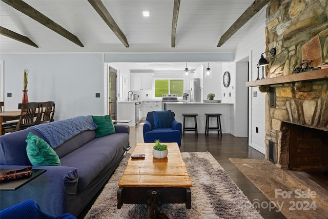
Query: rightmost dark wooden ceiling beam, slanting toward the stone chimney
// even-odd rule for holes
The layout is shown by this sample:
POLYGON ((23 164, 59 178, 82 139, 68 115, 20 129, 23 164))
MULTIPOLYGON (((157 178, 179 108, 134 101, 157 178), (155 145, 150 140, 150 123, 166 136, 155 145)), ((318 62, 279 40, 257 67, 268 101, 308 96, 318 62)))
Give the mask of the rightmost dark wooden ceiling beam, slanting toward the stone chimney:
POLYGON ((259 12, 259 10, 261 10, 269 2, 270 0, 255 0, 253 4, 240 15, 237 21, 221 36, 217 47, 220 47, 226 43, 232 35, 234 35, 244 24, 246 24, 257 12, 259 12))

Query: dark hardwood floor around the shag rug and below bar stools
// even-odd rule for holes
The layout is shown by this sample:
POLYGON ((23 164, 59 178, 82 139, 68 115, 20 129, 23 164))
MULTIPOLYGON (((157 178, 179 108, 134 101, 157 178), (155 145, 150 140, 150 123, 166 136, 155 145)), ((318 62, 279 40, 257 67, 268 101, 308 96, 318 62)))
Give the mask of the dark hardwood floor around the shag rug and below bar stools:
MULTIPOLYGON (((129 153, 132 153, 136 143, 144 142, 142 137, 142 125, 130 128, 130 145, 132 148, 129 153)), ((182 137, 181 152, 203 152, 209 151, 216 158, 218 163, 224 170, 230 175, 232 180, 242 190, 242 192, 249 198, 251 203, 257 201, 264 208, 258 209, 260 214, 265 219, 279 219, 285 218, 281 212, 276 212, 277 209, 265 208, 265 204, 269 203, 267 197, 265 197, 261 191, 259 191, 249 180, 245 177, 236 167, 229 161, 229 158, 264 158, 264 155, 252 147, 248 146, 248 138, 246 137, 234 137, 231 134, 222 134, 219 137, 217 134, 198 134, 198 137, 193 133, 186 133, 182 137), (257 199, 257 200, 256 200, 257 199), (255 200, 255 201, 254 201, 255 200)), ((82 212, 78 219, 84 218, 84 215, 88 212, 92 203, 82 212)))

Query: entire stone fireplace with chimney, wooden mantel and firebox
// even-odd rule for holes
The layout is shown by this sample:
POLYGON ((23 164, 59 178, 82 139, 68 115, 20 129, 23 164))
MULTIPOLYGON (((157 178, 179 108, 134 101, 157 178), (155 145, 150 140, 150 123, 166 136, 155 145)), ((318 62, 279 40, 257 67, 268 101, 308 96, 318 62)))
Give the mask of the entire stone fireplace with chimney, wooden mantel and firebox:
POLYGON ((257 81, 267 92, 265 157, 282 169, 327 171, 328 68, 294 73, 304 60, 328 63, 327 1, 271 1, 266 23, 265 51, 277 53, 257 81))

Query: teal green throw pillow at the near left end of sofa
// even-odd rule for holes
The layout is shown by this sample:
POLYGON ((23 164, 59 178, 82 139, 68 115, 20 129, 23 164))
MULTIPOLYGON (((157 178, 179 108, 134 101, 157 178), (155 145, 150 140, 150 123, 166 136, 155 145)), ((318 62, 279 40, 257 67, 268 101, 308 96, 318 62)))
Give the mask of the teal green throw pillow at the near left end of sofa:
POLYGON ((60 166, 57 153, 39 136, 29 132, 26 152, 33 166, 60 166))

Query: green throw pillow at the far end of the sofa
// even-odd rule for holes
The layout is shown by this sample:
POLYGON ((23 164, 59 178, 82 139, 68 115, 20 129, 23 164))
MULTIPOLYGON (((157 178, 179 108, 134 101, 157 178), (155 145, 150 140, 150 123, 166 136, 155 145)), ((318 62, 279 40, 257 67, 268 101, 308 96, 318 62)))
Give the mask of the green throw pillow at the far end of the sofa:
POLYGON ((93 122, 98 126, 96 129, 96 137, 102 137, 115 133, 115 127, 111 115, 92 116, 93 122))

